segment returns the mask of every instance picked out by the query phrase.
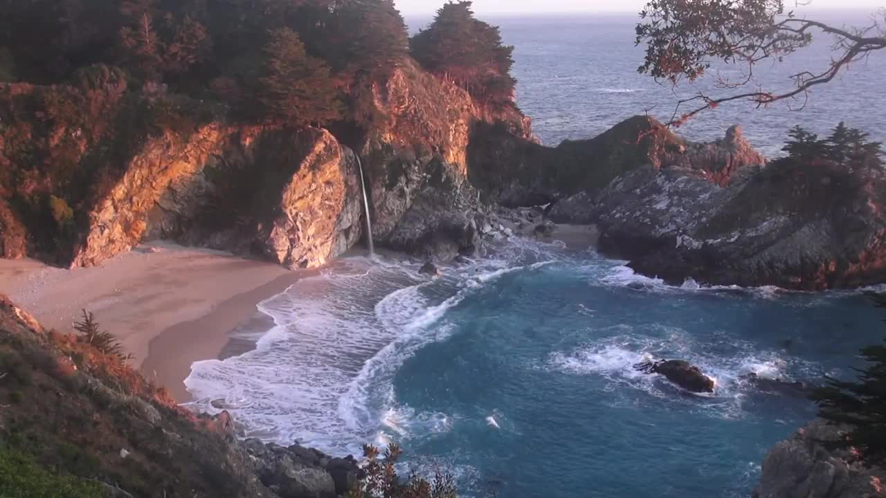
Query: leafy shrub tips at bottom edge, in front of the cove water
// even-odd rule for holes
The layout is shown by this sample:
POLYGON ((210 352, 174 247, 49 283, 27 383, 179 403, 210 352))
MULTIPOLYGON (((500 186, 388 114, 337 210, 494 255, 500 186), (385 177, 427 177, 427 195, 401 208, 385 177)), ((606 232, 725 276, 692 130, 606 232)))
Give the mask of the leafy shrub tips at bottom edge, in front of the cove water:
POLYGON ((348 494, 347 498, 455 498, 455 480, 449 474, 438 473, 427 479, 409 476, 400 482, 395 469, 402 450, 394 443, 385 448, 384 460, 379 460, 377 447, 364 445, 363 456, 367 463, 366 476, 348 494))

